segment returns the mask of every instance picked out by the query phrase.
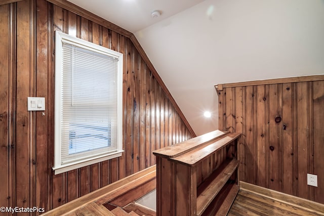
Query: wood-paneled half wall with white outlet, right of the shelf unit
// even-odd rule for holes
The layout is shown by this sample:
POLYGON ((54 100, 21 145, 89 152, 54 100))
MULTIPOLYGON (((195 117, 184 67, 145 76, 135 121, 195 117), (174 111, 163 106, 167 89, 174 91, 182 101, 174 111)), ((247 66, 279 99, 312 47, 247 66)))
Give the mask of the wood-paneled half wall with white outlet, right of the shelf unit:
POLYGON ((324 203, 324 75, 215 88, 219 129, 242 134, 239 180, 324 203))

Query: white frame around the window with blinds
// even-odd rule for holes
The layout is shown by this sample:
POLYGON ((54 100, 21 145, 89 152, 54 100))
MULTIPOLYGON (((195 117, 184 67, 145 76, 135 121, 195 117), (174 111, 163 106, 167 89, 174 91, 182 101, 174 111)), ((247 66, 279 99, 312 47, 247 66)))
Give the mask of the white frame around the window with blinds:
POLYGON ((120 157, 123 151, 123 54, 101 47, 89 41, 56 31, 55 33, 55 135, 54 135, 54 167, 55 175, 63 172, 80 168, 83 166, 95 164, 101 161, 120 157), (78 161, 63 163, 61 160, 61 77, 63 61, 63 42, 80 48, 91 50, 98 53, 104 53, 118 58, 117 63, 117 150, 103 153, 95 157, 89 157, 78 161))

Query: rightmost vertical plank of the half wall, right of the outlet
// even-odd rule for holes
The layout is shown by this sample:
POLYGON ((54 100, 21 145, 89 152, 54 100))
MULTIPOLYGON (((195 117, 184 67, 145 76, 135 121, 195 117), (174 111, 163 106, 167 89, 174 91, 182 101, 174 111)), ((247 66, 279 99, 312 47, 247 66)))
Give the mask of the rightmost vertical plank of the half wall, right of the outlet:
POLYGON ((313 143, 314 143, 314 170, 313 174, 317 175, 317 188, 314 188, 314 201, 324 203, 324 175, 322 167, 324 164, 324 133, 322 122, 324 122, 324 81, 313 82, 313 143))

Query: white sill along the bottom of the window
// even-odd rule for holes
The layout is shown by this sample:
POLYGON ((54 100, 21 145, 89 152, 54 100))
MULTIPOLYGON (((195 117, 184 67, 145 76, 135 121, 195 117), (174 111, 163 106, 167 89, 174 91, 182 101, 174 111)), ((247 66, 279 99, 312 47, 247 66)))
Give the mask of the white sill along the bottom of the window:
POLYGON ((113 159, 116 157, 120 157, 121 154, 123 154, 124 151, 117 151, 114 153, 110 153, 109 155, 106 156, 100 156, 98 158, 90 158, 87 160, 82 160, 82 161, 77 161, 75 163, 69 163, 69 164, 63 164, 63 165, 59 165, 59 166, 54 166, 53 170, 54 170, 54 175, 57 174, 61 174, 63 172, 67 172, 67 171, 71 171, 73 169, 77 169, 80 167, 84 167, 84 166, 88 166, 88 165, 92 165, 95 163, 99 163, 105 160, 109 160, 109 159, 113 159))

